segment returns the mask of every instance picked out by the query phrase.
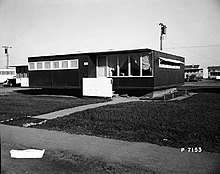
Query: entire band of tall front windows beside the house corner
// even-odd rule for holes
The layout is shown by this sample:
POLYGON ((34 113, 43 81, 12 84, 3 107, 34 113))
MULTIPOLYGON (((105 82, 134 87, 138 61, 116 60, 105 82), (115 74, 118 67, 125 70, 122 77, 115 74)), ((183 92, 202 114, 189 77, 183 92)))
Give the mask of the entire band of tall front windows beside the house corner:
POLYGON ((153 76, 153 61, 149 52, 100 55, 96 63, 97 77, 153 76))

